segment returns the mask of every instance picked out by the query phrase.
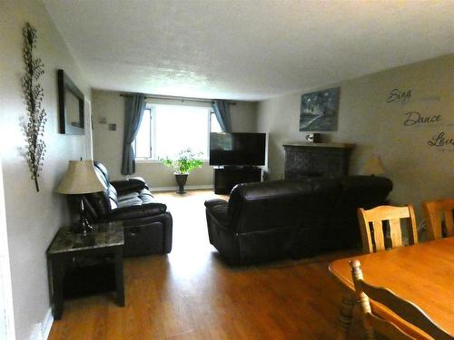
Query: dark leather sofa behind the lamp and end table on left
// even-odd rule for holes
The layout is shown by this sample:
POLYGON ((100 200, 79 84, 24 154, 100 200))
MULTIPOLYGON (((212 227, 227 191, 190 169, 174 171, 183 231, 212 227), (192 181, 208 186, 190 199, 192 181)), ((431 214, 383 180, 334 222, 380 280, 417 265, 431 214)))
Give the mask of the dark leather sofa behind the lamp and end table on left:
POLYGON ((102 163, 94 162, 104 192, 84 195, 87 219, 92 222, 122 221, 124 256, 167 254, 172 250, 172 215, 165 204, 153 199, 141 178, 109 181, 102 163))

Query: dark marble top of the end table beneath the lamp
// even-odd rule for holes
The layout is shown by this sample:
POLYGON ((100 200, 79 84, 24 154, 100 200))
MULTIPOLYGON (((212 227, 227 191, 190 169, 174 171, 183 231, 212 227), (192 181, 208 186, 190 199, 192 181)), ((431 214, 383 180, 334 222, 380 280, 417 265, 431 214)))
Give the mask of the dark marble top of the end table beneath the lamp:
POLYGON ((54 237, 47 255, 67 253, 71 251, 87 250, 123 246, 124 234, 122 222, 98 223, 94 229, 84 236, 74 233, 69 227, 60 228, 54 237))

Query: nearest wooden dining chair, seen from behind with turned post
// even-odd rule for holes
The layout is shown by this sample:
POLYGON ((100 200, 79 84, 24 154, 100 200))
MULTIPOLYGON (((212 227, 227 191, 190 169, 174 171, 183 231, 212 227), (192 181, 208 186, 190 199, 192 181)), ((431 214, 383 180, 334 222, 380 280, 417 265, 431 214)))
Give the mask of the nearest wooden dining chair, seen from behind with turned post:
POLYGON ((395 295, 390 289, 383 287, 373 287, 364 281, 359 260, 350 261, 351 276, 355 285, 355 294, 359 299, 362 312, 363 325, 366 330, 368 340, 375 340, 375 331, 380 335, 386 335, 390 339, 437 339, 452 340, 453 337, 441 329, 427 316, 419 306, 407 301, 400 296, 395 295), (392 314, 399 316, 419 328, 407 333, 402 330, 395 321, 385 320, 380 316, 373 314, 370 308, 370 300, 379 302, 381 305, 390 309, 392 314))

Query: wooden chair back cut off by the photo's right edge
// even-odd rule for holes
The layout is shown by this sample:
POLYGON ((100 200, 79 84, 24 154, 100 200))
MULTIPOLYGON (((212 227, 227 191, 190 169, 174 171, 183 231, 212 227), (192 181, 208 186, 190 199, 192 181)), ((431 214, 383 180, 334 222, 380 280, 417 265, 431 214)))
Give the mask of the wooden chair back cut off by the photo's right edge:
POLYGON ((438 199, 422 202, 422 210, 431 239, 454 236, 454 199, 438 199), (444 228, 443 228, 444 227, 444 228))

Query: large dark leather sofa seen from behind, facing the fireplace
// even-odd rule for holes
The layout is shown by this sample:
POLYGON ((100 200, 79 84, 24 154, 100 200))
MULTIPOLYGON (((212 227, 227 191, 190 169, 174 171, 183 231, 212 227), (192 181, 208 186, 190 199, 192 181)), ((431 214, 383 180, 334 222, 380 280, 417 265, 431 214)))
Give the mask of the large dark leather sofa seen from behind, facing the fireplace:
POLYGON ((360 246, 359 207, 385 204, 389 179, 349 176, 239 184, 205 202, 212 245, 230 264, 360 246))

